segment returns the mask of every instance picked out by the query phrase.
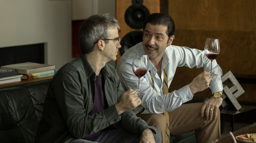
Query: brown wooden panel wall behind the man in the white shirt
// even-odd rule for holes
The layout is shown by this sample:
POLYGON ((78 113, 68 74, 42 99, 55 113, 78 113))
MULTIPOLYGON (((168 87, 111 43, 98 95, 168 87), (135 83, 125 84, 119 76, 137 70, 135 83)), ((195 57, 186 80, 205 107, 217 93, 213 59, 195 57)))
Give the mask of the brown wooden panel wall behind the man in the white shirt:
MULTIPOLYGON (((231 72, 245 90, 238 100, 256 103, 256 1, 255 0, 169 0, 168 14, 175 22, 173 45, 204 50, 206 38, 219 38, 217 62, 223 74, 231 72), (248 82, 250 81, 250 82, 248 82)), ((169 91, 190 83, 200 69, 178 68, 169 91)), ((211 94, 207 89, 195 97, 211 94)))

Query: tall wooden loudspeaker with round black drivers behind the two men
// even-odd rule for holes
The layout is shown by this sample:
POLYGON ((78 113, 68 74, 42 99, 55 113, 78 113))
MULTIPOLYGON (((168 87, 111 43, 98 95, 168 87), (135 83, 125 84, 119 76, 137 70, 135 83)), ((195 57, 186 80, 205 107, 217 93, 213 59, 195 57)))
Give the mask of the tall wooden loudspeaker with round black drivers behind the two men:
POLYGON ((116 19, 120 23, 119 37, 121 55, 130 47, 142 41, 143 23, 150 13, 160 12, 160 0, 116 0, 116 19))

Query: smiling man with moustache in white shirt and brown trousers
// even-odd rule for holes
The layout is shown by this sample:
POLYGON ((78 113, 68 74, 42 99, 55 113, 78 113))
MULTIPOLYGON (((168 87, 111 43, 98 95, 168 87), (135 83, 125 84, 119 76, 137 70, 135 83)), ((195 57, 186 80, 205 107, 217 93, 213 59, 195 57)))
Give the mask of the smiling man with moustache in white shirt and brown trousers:
MULTIPOLYGON (((138 77, 132 71, 132 60, 135 53, 149 56, 149 68, 140 78, 139 95, 142 104, 134 109, 138 117, 144 119, 149 126, 155 126, 162 134, 162 142, 167 128, 163 113, 169 114, 171 135, 178 135, 196 130, 196 141, 206 143, 220 137, 219 106, 222 103, 223 85, 222 70, 213 60, 213 73, 209 76, 211 61, 204 51, 171 45, 175 36, 175 25, 169 15, 153 13, 144 23, 143 42, 128 49, 120 58, 116 70, 124 89, 138 88, 138 77), (204 71, 193 81, 173 92, 164 93, 164 69, 167 70, 168 88, 178 66, 203 67, 204 71), (151 77, 152 76, 152 77, 151 77), (153 78, 153 81, 152 79, 153 78), (153 86, 152 86, 153 84, 153 86), (214 94, 206 103, 182 104, 193 98, 194 93, 210 88, 214 94), (141 112, 143 113, 141 114, 141 112)), ((168 117, 167 117, 168 118, 168 117)), ((168 134, 167 134, 168 137, 168 134)), ((167 141, 168 142, 168 141, 167 141)))

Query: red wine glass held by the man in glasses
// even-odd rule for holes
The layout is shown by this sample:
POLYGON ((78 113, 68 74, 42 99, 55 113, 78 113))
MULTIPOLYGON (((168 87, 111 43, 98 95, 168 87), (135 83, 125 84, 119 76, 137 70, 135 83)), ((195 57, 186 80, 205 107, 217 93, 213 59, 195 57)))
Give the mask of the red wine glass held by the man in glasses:
POLYGON ((140 92, 140 77, 144 76, 148 70, 148 55, 144 54, 135 54, 132 61, 132 71, 138 77, 138 89, 132 94, 144 95, 140 92))

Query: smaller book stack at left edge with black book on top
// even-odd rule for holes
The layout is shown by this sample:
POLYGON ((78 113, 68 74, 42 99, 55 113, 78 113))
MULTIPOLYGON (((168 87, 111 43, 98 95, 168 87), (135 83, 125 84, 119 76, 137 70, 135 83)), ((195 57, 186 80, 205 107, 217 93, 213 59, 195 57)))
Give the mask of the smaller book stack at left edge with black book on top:
POLYGON ((0 68, 0 85, 21 81, 21 77, 17 70, 0 68))

